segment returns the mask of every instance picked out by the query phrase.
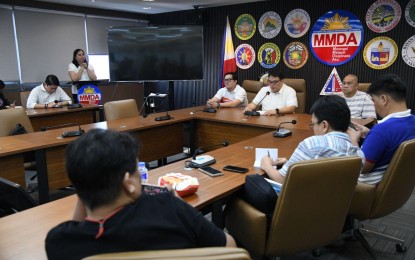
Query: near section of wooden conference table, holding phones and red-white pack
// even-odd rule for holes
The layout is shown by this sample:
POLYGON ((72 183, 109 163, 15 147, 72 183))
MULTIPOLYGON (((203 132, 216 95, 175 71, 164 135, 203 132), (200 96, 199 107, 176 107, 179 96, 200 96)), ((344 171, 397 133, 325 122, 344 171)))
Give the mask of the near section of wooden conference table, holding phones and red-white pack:
MULTIPOLYGON (((223 171, 222 176, 210 177, 197 169, 185 170, 185 160, 182 160, 150 170, 149 183, 157 184, 160 176, 170 172, 196 177, 199 181, 198 191, 184 197, 184 200, 202 212, 211 210, 212 221, 221 225, 223 205, 243 187, 245 176, 263 174, 261 169, 253 167, 255 148, 278 148, 280 157, 289 157, 299 142, 312 135, 309 128, 293 128, 292 133, 286 138, 275 138, 272 131, 268 131, 207 153, 216 159, 212 167, 220 170, 228 164, 246 167, 249 169, 246 174, 223 171)), ((47 232, 71 219, 75 203, 76 195, 72 195, 0 218, 0 259, 46 259, 44 240, 47 232)))

